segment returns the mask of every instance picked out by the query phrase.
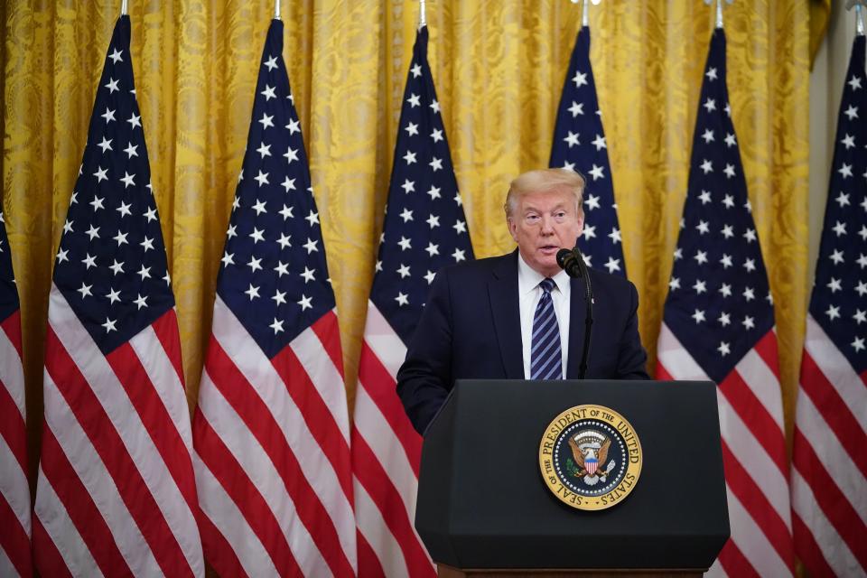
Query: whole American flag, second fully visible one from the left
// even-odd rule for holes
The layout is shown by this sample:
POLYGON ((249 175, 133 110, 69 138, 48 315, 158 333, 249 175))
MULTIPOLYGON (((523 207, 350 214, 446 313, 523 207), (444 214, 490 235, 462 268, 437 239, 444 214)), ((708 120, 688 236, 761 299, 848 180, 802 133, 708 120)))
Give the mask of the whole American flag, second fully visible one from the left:
POLYGON ((202 542, 220 575, 356 573, 335 311, 273 20, 193 418, 202 542))

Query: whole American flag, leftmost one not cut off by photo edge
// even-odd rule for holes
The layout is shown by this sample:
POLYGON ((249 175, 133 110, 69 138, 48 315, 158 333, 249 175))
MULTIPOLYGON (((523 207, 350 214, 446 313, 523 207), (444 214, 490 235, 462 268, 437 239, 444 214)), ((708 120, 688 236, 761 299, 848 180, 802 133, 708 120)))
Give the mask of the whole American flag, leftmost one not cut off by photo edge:
POLYGON ((202 575, 181 346, 115 25, 54 261, 33 545, 43 576, 202 575))

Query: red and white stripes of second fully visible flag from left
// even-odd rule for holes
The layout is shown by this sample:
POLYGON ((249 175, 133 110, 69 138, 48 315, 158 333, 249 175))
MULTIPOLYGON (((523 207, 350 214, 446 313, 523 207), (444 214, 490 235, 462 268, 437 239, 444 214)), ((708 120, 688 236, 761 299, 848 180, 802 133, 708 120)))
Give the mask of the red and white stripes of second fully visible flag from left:
POLYGON ((217 297, 193 439, 202 539, 218 573, 356 573, 340 356, 333 311, 268 359, 217 297))

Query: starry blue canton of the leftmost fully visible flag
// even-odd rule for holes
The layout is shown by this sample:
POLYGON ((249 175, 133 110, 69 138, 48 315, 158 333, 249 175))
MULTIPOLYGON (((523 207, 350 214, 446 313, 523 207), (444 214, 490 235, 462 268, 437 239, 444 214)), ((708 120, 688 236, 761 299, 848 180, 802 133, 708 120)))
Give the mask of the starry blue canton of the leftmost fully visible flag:
POLYGON ((111 37, 54 284, 103 353, 174 307, 135 100, 129 18, 111 37))

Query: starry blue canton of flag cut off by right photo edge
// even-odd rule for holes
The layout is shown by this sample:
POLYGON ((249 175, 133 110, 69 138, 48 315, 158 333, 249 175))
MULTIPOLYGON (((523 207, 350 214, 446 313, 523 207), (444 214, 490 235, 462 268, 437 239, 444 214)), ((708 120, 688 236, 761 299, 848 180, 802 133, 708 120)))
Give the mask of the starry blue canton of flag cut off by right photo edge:
POLYGON ((867 369, 867 81, 864 37, 846 73, 810 314, 854 370, 867 369), (859 115, 860 112, 860 115, 859 115))

